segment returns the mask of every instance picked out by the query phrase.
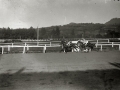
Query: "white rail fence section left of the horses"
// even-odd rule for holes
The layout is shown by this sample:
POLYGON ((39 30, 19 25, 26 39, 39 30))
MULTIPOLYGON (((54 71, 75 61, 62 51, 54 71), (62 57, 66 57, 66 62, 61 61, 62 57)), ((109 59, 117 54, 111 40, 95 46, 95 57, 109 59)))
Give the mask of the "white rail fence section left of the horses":
POLYGON ((4 54, 4 49, 10 52, 11 48, 23 48, 22 53, 25 53, 29 48, 43 48, 43 53, 46 52, 48 47, 60 47, 61 45, 56 44, 56 42, 25 42, 25 43, 0 43, 2 48, 1 53, 4 54))

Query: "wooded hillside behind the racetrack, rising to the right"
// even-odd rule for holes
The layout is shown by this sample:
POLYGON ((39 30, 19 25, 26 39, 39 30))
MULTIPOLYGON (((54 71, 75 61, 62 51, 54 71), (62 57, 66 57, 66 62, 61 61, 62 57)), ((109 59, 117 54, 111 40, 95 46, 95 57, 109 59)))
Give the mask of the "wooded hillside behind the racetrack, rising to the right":
MULTIPOLYGON (((52 32, 56 30, 56 27, 59 28, 60 36, 61 37, 64 36, 67 38, 72 38, 72 37, 90 38, 90 37, 96 37, 96 35, 98 35, 99 37, 101 37, 101 35, 103 37, 105 35, 108 35, 107 37, 112 37, 113 32, 118 34, 116 37, 119 37, 120 18, 113 18, 110 21, 106 22, 105 24, 71 22, 66 25, 46 27, 45 30, 52 32)), ((51 35, 52 37, 55 36, 54 34, 52 35, 52 33, 50 33, 49 35, 51 35)))

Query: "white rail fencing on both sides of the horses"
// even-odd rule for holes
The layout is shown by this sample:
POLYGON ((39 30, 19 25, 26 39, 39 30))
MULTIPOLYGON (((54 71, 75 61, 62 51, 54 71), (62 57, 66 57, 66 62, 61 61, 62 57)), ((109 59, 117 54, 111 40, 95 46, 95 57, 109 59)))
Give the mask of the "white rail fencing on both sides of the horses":
MULTIPOLYGON (((103 50, 104 46, 119 46, 120 50, 120 42, 110 42, 109 39, 99 39, 99 40, 88 40, 92 43, 95 43, 96 48, 100 46, 100 50, 103 50), (102 42, 100 42, 100 40, 102 42), (103 42, 104 41, 104 42, 103 42)), ((76 42, 76 41, 75 41, 76 42)), ((1 52, 4 53, 4 49, 7 48, 7 51, 9 52, 11 48, 23 48, 22 53, 25 53, 26 50, 29 50, 29 48, 43 48, 43 53, 45 53, 47 47, 60 47, 59 45, 60 41, 37 41, 37 42, 21 42, 21 43, 0 43, 0 47, 2 48, 1 52)))

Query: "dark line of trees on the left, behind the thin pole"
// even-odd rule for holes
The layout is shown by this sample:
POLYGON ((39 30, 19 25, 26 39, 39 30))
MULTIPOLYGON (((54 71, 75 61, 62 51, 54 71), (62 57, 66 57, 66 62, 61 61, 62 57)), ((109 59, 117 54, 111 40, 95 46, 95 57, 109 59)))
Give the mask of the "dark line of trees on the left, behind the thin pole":
POLYGON ((48 31, 45 28, 20 28, 10 29, 0 28, 0 39, 37 39, 37 33, 39 33, 38 39, 43 38, 60 38, 59 27, 56 26, 52 31, 48 31), (39 31, 38 31, 39 30, 39 31))

